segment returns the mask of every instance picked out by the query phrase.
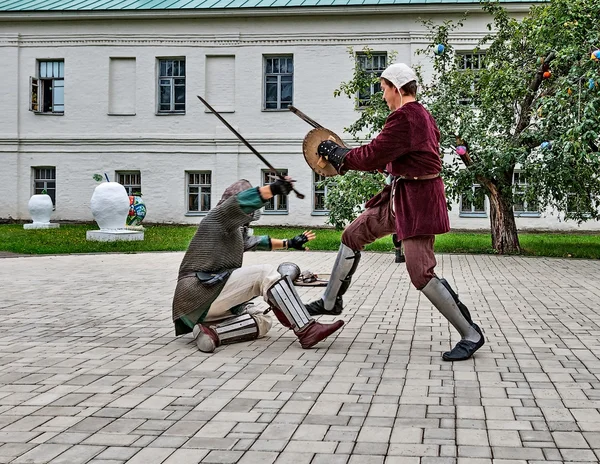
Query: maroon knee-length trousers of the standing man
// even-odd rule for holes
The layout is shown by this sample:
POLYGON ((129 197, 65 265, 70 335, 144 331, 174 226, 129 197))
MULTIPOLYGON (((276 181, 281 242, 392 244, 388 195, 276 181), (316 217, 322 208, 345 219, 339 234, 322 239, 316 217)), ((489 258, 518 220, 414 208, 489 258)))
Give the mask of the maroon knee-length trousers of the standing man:
MULTIPOLYGON (((396 218, 389 202, 367 208, 346 227, 342 243, 353 250, 362 250, 369 243, 396 232, 396 218)), ((406 270, 410 281, 421 290, 435 276, 433 244, 435 235, 418 235, 402 240, 406 270)))

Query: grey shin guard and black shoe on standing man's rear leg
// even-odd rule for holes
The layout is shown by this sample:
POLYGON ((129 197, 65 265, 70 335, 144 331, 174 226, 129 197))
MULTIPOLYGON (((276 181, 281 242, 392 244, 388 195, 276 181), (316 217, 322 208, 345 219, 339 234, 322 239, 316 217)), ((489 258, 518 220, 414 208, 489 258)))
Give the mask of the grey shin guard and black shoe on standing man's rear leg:
POLYGON ((448 288, 437 277, 431 279, 421 291, 462 337, 451 351, 442 355, 442 359, 462 361, 473 356, 485 343, 481 329, 466 319, 448 288))

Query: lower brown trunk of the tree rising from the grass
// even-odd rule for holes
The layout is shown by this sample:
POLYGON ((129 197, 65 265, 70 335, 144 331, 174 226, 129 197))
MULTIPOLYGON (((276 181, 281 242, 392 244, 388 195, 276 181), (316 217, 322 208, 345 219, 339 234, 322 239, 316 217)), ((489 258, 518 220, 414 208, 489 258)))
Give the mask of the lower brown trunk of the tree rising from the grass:
POLYGON ((501 255, 520 253, 521 245, 511 202, 506 201, 497 189, 489 193, 492 247, 501 255))

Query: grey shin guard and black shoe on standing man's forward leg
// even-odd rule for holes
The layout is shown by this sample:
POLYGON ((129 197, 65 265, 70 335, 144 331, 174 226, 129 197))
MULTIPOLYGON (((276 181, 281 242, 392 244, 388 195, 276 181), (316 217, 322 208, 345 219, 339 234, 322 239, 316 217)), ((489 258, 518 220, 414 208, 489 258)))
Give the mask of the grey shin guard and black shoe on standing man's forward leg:
POLYGON ((325 293, 323 293, 320 300, 306 305, 309 314, 316 316, 319 314, 337 315, 342 313, 344 306, 342 295, 350 287, 352 275, 356 272, 359 262, 360 251, 355 251, 342 243, 325 293))

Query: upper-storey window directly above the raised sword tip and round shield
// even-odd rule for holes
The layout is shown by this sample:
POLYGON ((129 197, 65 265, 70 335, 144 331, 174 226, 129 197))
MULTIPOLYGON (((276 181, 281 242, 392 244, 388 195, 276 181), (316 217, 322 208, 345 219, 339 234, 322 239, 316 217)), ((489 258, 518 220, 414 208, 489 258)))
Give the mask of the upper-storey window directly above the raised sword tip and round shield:
POLYGON ((265 109, 285 110, 294 94, 294 58, 265 56, 265 109))

